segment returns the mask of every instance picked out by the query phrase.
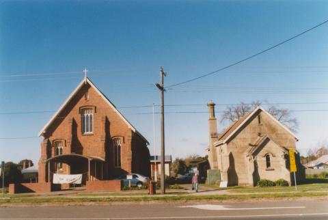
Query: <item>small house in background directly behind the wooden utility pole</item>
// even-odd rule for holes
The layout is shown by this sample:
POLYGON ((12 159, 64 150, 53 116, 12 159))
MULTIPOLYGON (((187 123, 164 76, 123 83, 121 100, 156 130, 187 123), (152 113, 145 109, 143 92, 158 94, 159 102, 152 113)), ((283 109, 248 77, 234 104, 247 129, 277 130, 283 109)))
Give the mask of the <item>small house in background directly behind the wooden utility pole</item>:
MULTIPOLYGON (((165 163, 165 176, 170 176, 170 170, 172 165, 172 156, 171 155, 165 155, 164 157, 164 163, 165 163)), ((157 180, 157 178, 161 178, 161 156, 150 156, 150 166, 151 166, 151 174, 152 179, 157 180), (156 171, 156 173, 155 173, 156 171)))

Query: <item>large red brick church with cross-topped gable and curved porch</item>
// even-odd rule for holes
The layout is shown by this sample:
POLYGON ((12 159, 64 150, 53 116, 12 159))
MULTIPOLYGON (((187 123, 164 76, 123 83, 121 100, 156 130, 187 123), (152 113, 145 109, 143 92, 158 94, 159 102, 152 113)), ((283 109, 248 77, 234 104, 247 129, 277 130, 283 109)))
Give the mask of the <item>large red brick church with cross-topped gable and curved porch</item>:
POLYGON ((83 174, 82 184, 126 173, 150 176, 148 141, 87 77, 42 128, 39 183, 83 174))

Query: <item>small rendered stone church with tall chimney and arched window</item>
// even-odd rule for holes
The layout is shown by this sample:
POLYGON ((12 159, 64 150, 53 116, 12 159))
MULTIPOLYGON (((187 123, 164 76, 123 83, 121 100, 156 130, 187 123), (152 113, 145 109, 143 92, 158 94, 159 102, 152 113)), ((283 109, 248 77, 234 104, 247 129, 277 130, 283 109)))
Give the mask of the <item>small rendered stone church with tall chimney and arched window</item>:
POLYGON ((296 150, 299 138, 262 107, 256 107, 222 133, 217 133, 215 103, 208 102, 210 169, 219 170, 223 186, 255 186, 258 180, 287 180, 293 184, 288 150, 294 150, 297 181, 305 172, 296 150))

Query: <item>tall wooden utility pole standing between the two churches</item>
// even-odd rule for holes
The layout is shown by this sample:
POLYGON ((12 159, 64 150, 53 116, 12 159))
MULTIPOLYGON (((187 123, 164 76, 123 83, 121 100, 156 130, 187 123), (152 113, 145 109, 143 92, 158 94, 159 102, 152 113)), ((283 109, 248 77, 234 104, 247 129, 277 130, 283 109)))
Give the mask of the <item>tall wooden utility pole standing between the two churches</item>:
POLYGON ((161 92, 161 192, 165 194, 165 135, 164 135, 164 77, 166 72, 163 71, 163 67, 160 67, 161 84, 156 83, 156 87, 161 92))

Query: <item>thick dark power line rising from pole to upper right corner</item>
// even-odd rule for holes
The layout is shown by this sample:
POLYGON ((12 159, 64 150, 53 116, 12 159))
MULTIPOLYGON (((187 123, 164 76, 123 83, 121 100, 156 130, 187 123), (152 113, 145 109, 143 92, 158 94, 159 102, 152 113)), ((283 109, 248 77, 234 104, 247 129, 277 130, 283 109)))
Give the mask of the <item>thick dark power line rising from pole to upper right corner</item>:
POLYGON ((189 80, 187 80, 187 81, 182 81, 182 82, 180 82, 180 83, 176 83, 176 84, 173 84, 173 85, 169 85, 169 86, 167 86, 166 88, 169 88, 169 87, 175 87, 175 86, 177 86, 177 85, 182 85, 182 84, 185 84, 185 83, 190 83, 191 81, 195 81, 195 80, 197 80, 197 79, 201 79, 201 78, 203 78, 203 77, 208 77, 208 76, 210 76, 210 75, 212 75, 212 74, 215 74, 215 73, 217 73, 217 72, 220 72, 220 71, 222 71, 222 70, 226 70, 226 69, 228 69, 228 68, 230 68, 230 67, 232 67, 232 66, 236 66, 237 64, 241 64, 241 63, 243 63, 244 61, 247 61, 248 59, 251 59, 251 58, 254 58, 254 57, 258 56, 258 55, 261 55, 262 53, 266 53, 267 51, 270 51, 270 50, 272 50, 272 49, 275 49, 277 46, 280 46, 280 45, 282 45, 282 44, 285 44, 286 42, 289 42, 290 40, 293 40, 293 39, 295 39, 295 38, 297 38, 297 37, 299 37, 299 36, 301 36, 301 35, 303 35, 303 34, 305 34, 305 33, 308 33, 309 31, 312 31, 313 29, 316 29, 317 27, 320 27, 321 25, 324 25, 325 23, 328 23, 328 20, 325 20, 323 23, 320 23, 320 24, 318 24, 318 25, 316 25, 316 26, 314 26, 314 27, 311 27, 310 29, 307 29, 307 30, 303 31, 303 32, 301 32, 301 33, 299 33, 299 34, 293 36, 292 38, 288 38, 287 40, 284 40, 284 41, 282 41, 282 42, 279 42, 278 44, 275 44, 275 45, 273 45, 273 46, 270 46, 268 49, 265 49, 265 50, 263 50, 263 51, 260 51, 260 52, 258 52, 258 53, 256 53, 256 54, 254 54, 254 55, 251 55, 251 56, 249 56, 249 57, 246 57, 246 58, 244 58, 244 59, 241 59, 240 61, 236 61, 236 62, 233 63, 233 64, 230 64, 230 65, 228 65, 228 66, 225 66, 225 67, 223 67, 223 68, 220 68, 219 70, 215 70, 215 71, 213 71, 213 72, 208 72, 208 73, 206 73, 206 74, 203 74, 203 75, 200 76, 200 77, 195 77, 195 78, 193 78, 193 79, 189 79, 189 80))

